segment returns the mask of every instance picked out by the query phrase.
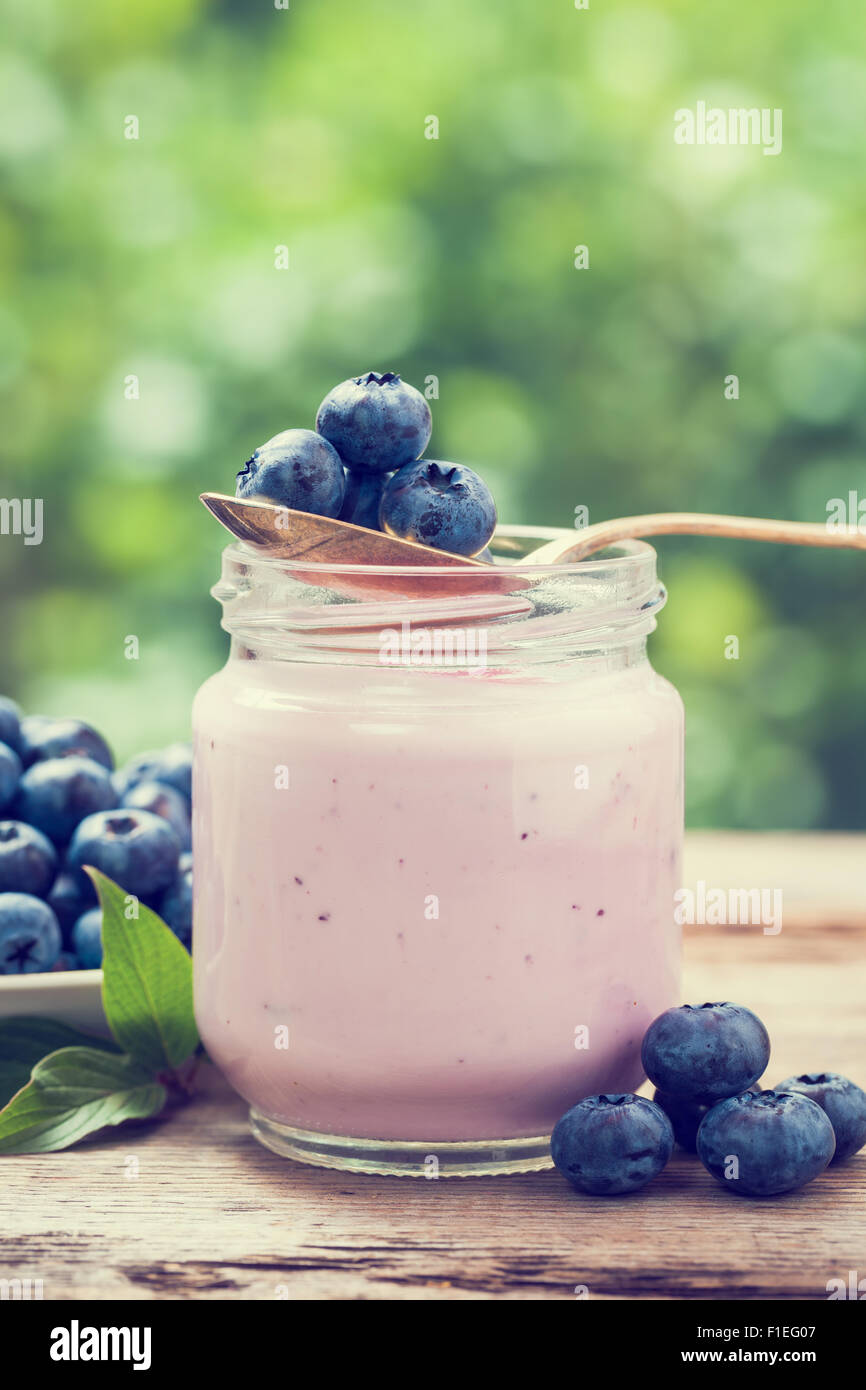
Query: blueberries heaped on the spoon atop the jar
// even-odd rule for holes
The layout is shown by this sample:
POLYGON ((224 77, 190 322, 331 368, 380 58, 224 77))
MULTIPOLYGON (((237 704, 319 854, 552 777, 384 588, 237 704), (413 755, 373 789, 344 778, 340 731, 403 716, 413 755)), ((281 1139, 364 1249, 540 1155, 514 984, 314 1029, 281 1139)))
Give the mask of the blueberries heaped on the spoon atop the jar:
POLYGON ((489 559, 491 491, 471 468, 421 457, 431 430, 420 391, 393 371, 367 371, 328 392, 314 431, 284 430, 260 445, 235 492, 489 559))

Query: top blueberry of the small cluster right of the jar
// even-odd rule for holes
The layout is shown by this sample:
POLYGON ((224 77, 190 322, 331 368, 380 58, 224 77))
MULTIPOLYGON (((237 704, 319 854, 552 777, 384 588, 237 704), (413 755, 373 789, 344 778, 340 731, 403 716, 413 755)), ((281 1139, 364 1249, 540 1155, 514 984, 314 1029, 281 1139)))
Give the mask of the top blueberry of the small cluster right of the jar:
POLYGON ((660 1091, 712 1105, 758 1080, 770 1059, 770 1038, 740 1004, 684 1004, 649 1024, 641 1059, 660 1091))

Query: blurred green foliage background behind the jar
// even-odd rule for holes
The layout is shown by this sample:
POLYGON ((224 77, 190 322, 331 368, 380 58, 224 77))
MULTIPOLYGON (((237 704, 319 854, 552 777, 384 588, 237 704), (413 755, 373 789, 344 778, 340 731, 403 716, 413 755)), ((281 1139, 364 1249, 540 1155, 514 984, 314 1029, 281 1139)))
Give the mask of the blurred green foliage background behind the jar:
MULTIPOLYGON (((866 498, 865 18, 0 0, 0 495, 46 516, 0 538, 0 688, 186 737, 225 651, 196 493, 371 367, 439 378, 430 452, 503 520, 866 498), (781 154, 676 145, 698 100, 781 107, 781 154)), ((691 824, 862 828, 863 557, 660 553, 691 824)))

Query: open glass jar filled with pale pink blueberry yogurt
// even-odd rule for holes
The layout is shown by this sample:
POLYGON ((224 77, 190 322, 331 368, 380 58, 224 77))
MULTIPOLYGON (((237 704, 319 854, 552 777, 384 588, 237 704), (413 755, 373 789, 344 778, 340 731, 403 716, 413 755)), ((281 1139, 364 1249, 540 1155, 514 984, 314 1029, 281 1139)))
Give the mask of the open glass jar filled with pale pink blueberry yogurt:
MULTIPOLYGON (((548 1168, 678 999, 683 706, 655 550, 495 570, 222 556, 195 733, 196 1016, 279 1154, 548 1168)), ((505 559, 502 557, 505 550, 505 559)))

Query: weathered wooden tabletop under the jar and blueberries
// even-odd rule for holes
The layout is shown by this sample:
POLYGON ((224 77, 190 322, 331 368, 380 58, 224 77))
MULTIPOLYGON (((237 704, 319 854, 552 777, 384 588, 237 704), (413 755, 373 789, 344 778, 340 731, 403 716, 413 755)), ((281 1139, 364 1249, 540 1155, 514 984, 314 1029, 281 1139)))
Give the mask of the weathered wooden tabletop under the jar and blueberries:
MULTIPOLYGON (((866 1081, 866 844, 694 835, 685 883, 778 885, 777 935, 685 931, 692 1001, 752 1006, 769 1080, 866 1081)), ((0 1161, 0 1277, 68 1298, 826 1298, 866 1276, 866 1151, 801 1193, 746 1201, 694 1158, 627 1200, 556 1173, 346 1177, 260 1148, 211 1074, 164 1123, 65 1154, 0 1161)))

